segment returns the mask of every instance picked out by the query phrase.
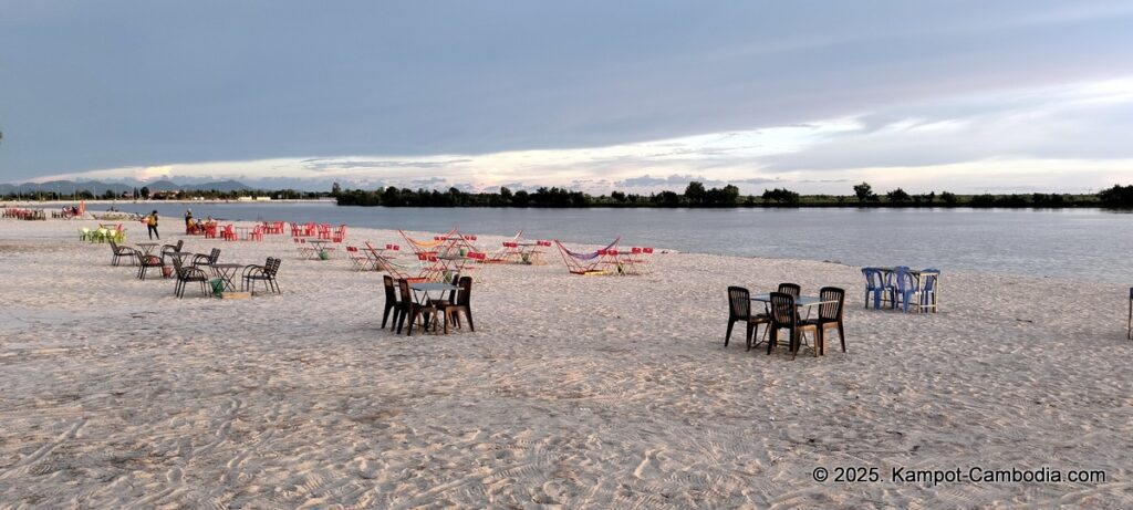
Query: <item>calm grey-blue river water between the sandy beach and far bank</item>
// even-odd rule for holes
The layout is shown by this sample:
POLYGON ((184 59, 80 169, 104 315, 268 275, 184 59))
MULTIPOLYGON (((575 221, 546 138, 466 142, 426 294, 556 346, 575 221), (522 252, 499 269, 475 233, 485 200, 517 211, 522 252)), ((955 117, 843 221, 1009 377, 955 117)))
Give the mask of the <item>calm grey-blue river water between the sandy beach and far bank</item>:
MULTIPOLYGON (((165 224, 184 204, 157 205, 165 224)), ((1100 210, 535 210, 339 207, 332 203, 194 204, 198 218, 316 221, 415 231, 453 226, 480 235, 568 244, 656 246, 682 252, 905 264, 1133 283, 1133 214, 1100 210)), ((122 204, 145 213, 148 205, 122 204)), ((172 223, 176 224, 176 223, 172 223)))

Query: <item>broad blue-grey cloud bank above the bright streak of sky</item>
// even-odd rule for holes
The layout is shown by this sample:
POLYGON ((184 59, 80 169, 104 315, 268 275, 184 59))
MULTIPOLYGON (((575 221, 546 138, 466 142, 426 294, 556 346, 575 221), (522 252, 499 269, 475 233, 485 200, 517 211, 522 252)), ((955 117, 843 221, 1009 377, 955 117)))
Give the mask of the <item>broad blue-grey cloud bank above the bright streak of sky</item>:
MULTIPOLYGON (((483 169, 417 159, 806 130, 824 119, 885 129, 889 119, 870 116, 903 104, 1133 75, 1133 6, 1121 1, 457 2, 440 17, 416 2, 349 0, 275 10, 220 0, 9 3, 0 17, 8 179, 353 155, 374 160, 314 161, 312 170, 470 176, 483 169), (60 33, 82 34, 83 44, 59 44, 60 33)), ((1107 114, 1082 112, 1094 126, 1107 114)), ((1116 152, 1093 142, 1077 154, 1116 152)), ((730 171, 721 159, 781 148, 723 138, 589 167, 612 179, 726 179, 734 176, 715 173, 730 171), (681 167, 681 158, 706 163, 681 167)), ((946 161, 930 148, 897 159, 946 161)))

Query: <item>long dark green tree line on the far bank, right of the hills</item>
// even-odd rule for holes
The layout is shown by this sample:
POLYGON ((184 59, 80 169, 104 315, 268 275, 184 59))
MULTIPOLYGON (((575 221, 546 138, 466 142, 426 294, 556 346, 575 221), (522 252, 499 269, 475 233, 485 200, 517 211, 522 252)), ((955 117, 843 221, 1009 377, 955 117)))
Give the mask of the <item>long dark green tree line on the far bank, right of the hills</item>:
POLYGON ((393 186, 343 190, 335 184, 331 196, 339 205, 386 207, 1133 207, 1133 185, 1114 185, 1096 194, 959 195, 910 194, 901 188, 877 194, 868 182, 861 182, 853 186, 853 195, 800 195, 774 188, 765 189, 761 195, 740 195, 740 188, 733 185, 706 188, 704 182, 692 181, 683 194, 611 192, 594 196, 559 187, 534 192, 502 187, 497 192, 469 193, 458 188, 442 192, 393 186))

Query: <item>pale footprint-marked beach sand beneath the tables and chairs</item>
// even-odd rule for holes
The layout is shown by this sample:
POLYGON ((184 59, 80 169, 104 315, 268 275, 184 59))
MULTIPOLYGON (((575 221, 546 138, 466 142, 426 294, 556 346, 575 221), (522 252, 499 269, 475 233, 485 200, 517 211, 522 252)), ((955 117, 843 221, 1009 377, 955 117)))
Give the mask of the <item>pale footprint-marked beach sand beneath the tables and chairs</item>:
POLYGON ((222 262, 281 255, 283 294, 177 299, 79 243, 95 223, 0 221, 2 508, 1133 505, 1119 286, 942 267, 942 312, 904 315, 863 309, 838 264, 664 254, 653 275, 574 277, 552 258, 485 266, 475 333, 407 338, 381 329, 381 273, 300 261, 289 236, 185 237, 222 262), (783 281, 849 290, 847 352, 724 348, 725 288, 783 281))

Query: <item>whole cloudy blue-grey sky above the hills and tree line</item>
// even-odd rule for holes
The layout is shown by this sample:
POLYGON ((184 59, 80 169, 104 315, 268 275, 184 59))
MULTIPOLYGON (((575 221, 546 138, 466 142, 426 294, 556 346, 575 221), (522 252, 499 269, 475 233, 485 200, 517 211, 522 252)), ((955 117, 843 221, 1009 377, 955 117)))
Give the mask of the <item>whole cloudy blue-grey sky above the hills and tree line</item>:
POLYGON ((1133 184, 1128 1, 0 0, 0 181, 1133 184))

